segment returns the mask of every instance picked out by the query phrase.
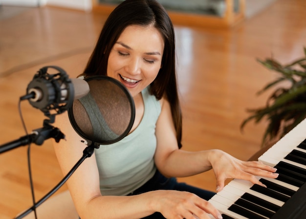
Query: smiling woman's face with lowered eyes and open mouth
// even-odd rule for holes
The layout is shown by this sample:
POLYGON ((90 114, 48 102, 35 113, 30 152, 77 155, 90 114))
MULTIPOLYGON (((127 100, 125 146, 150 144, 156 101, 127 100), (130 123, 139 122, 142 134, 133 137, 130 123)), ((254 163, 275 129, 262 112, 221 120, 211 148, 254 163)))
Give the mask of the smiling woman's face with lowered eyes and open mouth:
POLYGON ((128 26, 109 53, 107 75, 122 82, 135 97, 157 76, 163 51, 164 41, 156 28, 128 26))

